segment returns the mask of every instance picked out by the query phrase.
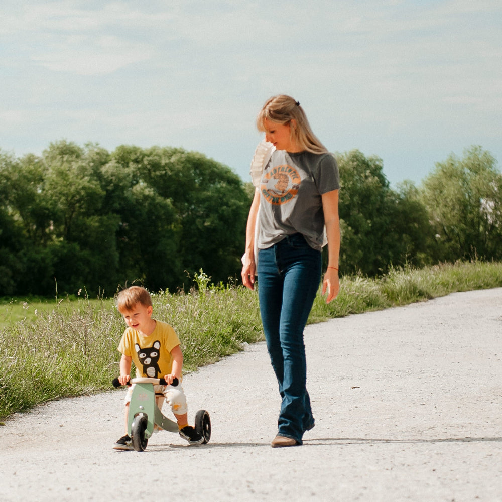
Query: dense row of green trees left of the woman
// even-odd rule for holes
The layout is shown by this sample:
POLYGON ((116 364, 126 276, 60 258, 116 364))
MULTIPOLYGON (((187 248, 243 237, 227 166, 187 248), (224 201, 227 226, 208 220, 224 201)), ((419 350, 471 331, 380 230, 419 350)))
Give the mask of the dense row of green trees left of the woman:
POLYGON ((228 167, 175 148, 51 144, 0 157, 0 296, 176 291, 239 268, 248 194, 228 167))

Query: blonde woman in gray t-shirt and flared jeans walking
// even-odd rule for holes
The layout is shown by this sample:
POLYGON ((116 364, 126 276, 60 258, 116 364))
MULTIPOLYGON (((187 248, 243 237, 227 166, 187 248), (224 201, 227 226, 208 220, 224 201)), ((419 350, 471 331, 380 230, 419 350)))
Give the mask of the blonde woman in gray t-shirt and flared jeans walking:
POLYGON ((322 294, 339 291, 339 173, 334 157, 312 133, 300 103, 270 98, 257 117, 265 141, 257 148, 255 196, 246 226, 242 282, 254 288, 282 403, 273 447, 302 444, 314 427, 306 388, 303 331, 321 278, 323 245, 328 268, 322 294), (263 161, 263 165, 261 164, 263 161))

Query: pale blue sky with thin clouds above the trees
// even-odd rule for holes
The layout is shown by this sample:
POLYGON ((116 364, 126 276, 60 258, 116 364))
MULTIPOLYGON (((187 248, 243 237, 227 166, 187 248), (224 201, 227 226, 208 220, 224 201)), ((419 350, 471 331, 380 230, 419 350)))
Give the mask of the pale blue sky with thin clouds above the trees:
POLYGON ((420 183, 480 145, 502 162, 499 0, 3 0, 0 148, 183 147, 248 180, 255 116, 294 96, 332 152, 420 183))

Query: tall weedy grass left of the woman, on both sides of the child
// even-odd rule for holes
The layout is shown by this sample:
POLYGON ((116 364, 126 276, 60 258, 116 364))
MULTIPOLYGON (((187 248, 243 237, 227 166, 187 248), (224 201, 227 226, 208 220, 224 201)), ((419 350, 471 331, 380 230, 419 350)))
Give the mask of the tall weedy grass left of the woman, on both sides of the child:
MULTIPOLYGON (((187 294, 152 294, 153 317, 169 322, 181 340, 185 372, 263 337, 254 292, 209 284, 202 271, 194 283, 187 294)), ((37 310, 0 331, 0 418, 48 400, 110 389, 118 375, 117 346, 126 325, 113 301, 61 300, 37 310)))

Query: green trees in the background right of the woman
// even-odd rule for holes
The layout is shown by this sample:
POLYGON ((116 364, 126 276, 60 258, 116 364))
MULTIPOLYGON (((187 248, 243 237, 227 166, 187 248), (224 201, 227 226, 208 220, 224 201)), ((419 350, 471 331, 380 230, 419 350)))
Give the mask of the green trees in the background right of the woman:
POLYGON ((344 271, 502 259, 502 175, 481 147, 436 163, 420 187, 405 181, 397 190, 380 158, 352 151, 337 159, 344 271))

